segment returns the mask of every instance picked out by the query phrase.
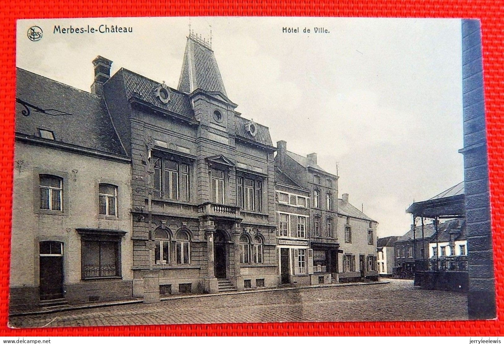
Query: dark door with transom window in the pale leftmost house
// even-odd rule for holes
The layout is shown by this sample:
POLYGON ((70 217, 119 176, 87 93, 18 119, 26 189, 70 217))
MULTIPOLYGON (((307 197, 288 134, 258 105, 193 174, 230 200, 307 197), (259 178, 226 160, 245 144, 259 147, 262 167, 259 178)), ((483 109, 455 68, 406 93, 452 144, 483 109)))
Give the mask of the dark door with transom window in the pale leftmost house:
POLYGON ((40 301, 63 298, 63 243, 39 243, 40 301))

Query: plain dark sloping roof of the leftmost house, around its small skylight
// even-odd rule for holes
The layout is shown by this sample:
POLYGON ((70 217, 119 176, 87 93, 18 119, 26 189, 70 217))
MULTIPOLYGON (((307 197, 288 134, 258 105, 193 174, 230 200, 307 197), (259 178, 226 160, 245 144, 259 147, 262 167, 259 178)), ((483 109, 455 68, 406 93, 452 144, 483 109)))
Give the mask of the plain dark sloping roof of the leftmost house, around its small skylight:
POLYGON ((17 133, 39 137, 38 128, 46 129, 54 133, 54 142, 126 155, 100 97, 20 68, 16 88, 16 97, 22 101, 71 113, 51 116, 32 111, 30 116, 23 116, 24 107, 17 104, 17 133))

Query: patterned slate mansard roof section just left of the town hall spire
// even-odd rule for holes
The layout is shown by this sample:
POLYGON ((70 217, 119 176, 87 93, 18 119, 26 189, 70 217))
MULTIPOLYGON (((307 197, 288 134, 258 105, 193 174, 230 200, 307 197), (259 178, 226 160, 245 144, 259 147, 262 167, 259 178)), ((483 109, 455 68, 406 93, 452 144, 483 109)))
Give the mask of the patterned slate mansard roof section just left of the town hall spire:
MULTIPOLYGON (((143 101, 151 103, 165 110, 179 114, 180 116, 194 119, 194 111, 191 106, 191 101, 186 94, 179 92, 173 88, 170 89, 170 101, 166 104, 156 97, 154 88, 160 82, 156 82, 142 75, 121 68, 117 73, 122 73, 124 78, 124 87, 128 98, 132 96, 139 97, 143 101)), ((114 74, 115 75, 117 75, 114 74)), ((114 77, 112 76, 112 78, 114 77)))

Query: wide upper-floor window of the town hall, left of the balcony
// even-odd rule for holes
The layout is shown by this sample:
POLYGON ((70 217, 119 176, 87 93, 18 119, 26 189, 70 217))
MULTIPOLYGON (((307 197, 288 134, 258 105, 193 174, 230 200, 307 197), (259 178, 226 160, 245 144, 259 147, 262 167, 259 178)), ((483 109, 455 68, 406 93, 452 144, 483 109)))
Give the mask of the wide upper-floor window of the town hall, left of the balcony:
POLYGON ((155 195, 166 199, 189 201, 189 165, 153 157, 155 195))

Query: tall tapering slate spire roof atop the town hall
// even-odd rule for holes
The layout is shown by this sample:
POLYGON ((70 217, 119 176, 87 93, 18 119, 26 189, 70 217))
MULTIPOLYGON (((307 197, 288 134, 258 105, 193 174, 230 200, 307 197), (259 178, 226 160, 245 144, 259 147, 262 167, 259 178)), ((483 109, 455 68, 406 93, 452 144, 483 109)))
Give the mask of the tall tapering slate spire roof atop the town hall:
POLYGON ((187 37, 177 88, 186 93, 192 93, 199 88, 204 91, 221 92, 227 97, 214 51, 194 34, 187 37))

